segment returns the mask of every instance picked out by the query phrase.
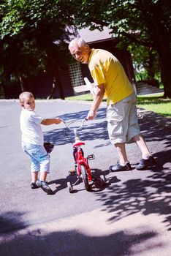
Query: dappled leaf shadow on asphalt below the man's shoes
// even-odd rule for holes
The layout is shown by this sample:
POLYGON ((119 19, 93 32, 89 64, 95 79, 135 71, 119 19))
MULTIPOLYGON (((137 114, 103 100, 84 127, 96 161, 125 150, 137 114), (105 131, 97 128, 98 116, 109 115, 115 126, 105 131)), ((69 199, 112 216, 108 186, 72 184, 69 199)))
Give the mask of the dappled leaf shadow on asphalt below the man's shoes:
POLYGON ((153 172, 145 179, 129 179, 108 187, 96 200, 102 202, 103 211, 113 212, 108 222, 115 222, 136 213, 157 214, 164 217, 167 230, 171 230, 171 173, 153 172))

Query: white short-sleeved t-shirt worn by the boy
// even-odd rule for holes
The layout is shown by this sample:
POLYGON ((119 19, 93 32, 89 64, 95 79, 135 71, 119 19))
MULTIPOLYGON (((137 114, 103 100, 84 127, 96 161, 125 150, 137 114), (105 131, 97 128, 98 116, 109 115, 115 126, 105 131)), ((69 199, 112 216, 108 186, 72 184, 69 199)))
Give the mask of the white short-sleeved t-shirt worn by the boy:
POLYGON ((20 129, 22 132, 22 142, 43 146, 44 139, 40 123, 42 116, 34 111, 23 108, 20 113, 20 129))

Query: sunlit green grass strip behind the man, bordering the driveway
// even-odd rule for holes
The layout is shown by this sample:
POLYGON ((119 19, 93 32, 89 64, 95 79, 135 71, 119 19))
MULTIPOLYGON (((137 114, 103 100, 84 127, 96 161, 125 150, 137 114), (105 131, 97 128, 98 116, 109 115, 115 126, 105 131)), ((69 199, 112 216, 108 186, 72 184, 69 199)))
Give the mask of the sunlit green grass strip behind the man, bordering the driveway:
MULTIPOLYGON (((93 97, 91 94, 83 94, 66 99, 92 101, 93 97)), ((103 101, 105 102, 106 99, 103 101)), ((171 99, 165 99, 163 94, 138 96, 137 107, 151 110, 161 116, 171 117, 171 99)))

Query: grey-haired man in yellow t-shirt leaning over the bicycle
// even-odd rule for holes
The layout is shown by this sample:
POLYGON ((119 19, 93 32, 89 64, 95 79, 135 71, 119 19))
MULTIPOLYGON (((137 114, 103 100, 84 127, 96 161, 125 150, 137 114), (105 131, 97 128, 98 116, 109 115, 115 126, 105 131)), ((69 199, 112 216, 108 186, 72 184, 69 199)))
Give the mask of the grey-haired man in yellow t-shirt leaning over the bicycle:
POLYGON ((88 112, 88 119, 95 118, 104 95, 107 97, 107 129, 119 157, 117 164, 110 166, 110 170, 132 170, 125 148, 126 143, 132 142, 137 143, 142 153, 137 170, 155 166, 155 159, 140 133, 136 95, 121 63, 107 50, 91 49, 81 38, 73 39, 69 43, 69 50, 77 61, 88 64, 96 85, 96 94, 88 112))

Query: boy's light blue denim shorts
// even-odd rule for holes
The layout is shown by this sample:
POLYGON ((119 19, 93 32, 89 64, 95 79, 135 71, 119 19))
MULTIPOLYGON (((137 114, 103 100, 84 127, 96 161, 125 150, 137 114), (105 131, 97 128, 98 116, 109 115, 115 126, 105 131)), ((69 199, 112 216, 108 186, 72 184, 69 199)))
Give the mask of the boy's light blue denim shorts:
POLYGON ((23 151, 31 157, 31 172, 44 171, 49 173, 50 157, 44 146, 22 142, 23 151))

